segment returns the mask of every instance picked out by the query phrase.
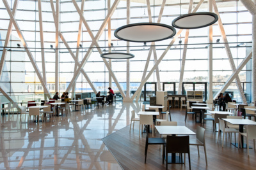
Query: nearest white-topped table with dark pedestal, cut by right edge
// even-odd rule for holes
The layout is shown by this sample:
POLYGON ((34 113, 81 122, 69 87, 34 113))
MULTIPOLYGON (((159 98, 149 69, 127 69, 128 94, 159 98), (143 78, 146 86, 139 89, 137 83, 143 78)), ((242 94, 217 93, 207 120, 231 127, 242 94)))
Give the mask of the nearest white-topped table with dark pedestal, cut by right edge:
MULTIPOLYGON (((239 132, 244 132, 244 125, 256 125, 256 122, 248 119, 234 119, 234 118, 223 118, 225 122, 228 122, 233 125, 239 125, 239 132)), ((247 148, 246 144, 244 144, 244 136, 241 135, 241 143, 242 146, 240 148, 247 148)), ((238 148, 238 143, 232 143, 232 145, 238 148)))

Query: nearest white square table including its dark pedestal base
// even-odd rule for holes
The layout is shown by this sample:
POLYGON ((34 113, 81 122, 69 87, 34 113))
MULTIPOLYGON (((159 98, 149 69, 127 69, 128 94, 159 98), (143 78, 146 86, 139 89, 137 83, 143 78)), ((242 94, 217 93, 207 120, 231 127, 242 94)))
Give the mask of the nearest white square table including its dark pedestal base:
MULTIPOLYGON (((169 125, 156 125, 156 130, 161 135, 195 135, 196 133, 188 129, 186 126, 169 126, 169 125)), ((175 147, 175 146, 174 146, 175 147)), ((183 164, 180 156, 176 153, 172 153, 172 156, 168 156, 168 164, 183 164)))

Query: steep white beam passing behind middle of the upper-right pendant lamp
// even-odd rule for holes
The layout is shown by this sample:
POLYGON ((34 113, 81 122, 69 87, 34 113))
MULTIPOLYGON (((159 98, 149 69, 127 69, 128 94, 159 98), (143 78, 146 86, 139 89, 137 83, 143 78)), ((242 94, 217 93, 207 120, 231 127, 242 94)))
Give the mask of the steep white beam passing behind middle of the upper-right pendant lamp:
MULTIPOLYGON (((189 1, 188 13, 191 13, 192 6, 193 6, 193 0, 190 0, 189 1)), ((180 81, 179 81, 178 94, 181 94, 181 92, 182 92, 182 82, 183 82, 184 69, 185 69, 186 56, 187 56, 187 49, 188 49, 188 36, 189 36, 189 29, 186 29, 185 40, 184 40, 184 48, 183 48, 183 54, 182 54, 182 60, 181 60, 181 68, 180 68, 180 81)))

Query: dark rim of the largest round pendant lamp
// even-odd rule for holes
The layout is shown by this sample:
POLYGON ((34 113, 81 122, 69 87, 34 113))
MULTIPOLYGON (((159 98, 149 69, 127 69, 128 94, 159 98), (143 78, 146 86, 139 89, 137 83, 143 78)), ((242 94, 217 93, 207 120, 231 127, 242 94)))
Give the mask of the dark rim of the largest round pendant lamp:
POLYGON ((176 34, 176 29, 174 27, 172 27, 171 25, 166 25, 166 24, 161 24, 161 23, 154 23, 154 22, 138 22, 138 23, 134 23, 134 24, 127 24, 127 25, 124 25, 122 27, 118 27, 114 32, 114 36, 116 38, 124 40, 124 41, 134 42, 134 43, 148 43, 148 42, 163 41, 165 39, 172 38, 173 36, 175 36, 175 34, 176 34), (157 25, 157 26, 161 26, 161 27, 166 27, 168 29, 171 29, 173 33, 172 33, 172 35, 170 35, 166 38, 156 39, 154 41, 134 41, 134 40, 130 40, 130 39, 121 38, 120 36, 117 35, 118 31, 121 31, 122 29, 125 29, 125 28, 128 28, 128 27, 140 26, 140 25, 157 25))

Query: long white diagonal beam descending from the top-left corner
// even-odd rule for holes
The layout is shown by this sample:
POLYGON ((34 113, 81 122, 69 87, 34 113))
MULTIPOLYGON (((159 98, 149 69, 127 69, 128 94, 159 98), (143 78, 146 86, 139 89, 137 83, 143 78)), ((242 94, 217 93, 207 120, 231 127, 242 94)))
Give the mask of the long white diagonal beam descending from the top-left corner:
POLYGON ((44 91, 47 92, 47 96, 48 96, 48 97, 51 97, 51 96, 50 96, 50 92, 49 92, 47 86, 45 85, 45 82, 44 82, 44 79, 43 79, 43 77, 42 77, 42 74, 40 73, 40 70, 38 69, 38 66, 37 66, 37 64, 36 64, 36 61, 35 61, 35 59, 34 59, 32 53, 31 53, 30 49, 28 48, 28 44, 27 44, 27 42, 26 42, 26 39, 24 38, 22 32, 20 31, 20 27, 19 27, 19 25, 17 24, 16 19, 15 19, 15 18, 13 17, 13 15, 12 15, 12 11, 11 11, 11 9, 10 9, 9 4, 7 3, 6 0, 3 0, 3 3, 4 3, 4 6, 5 6, 5 8, 6 8, 8 14, 9 14, 9 16, 10 16, 10 20, 12 20, 12 23, 13 23, 13 25, 14 25, 14 27, 15 27, 15 29, 16 29, 18 35, 19 35, 20 41, 21 41, 22 45, 24 46, 24 48, 25 48, 25 50, 26 50, 26 52, 27 52, 27 54, 28 54, 29 60, 31 61, 31 64, 32 64, 32 66, 33 66, 34 69, 35 69, 36 75, 38 76, 40 82, 42 83, 42 86, 43 86, 43 88, 44 88, 44 91))

